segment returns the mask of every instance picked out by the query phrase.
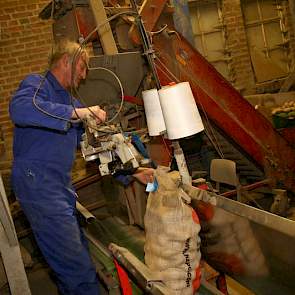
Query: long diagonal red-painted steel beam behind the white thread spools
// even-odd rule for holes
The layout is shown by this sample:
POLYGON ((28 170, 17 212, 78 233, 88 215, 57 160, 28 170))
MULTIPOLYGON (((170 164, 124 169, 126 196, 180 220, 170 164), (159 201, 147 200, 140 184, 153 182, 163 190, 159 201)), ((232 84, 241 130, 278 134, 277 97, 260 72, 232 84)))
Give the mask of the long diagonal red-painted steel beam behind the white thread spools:
POLYGON ((264 167, 267 177, 295 191, 295 150, 269 121, 178 33, 153 41, 161 84, 189 81, 199 108, 264 167))

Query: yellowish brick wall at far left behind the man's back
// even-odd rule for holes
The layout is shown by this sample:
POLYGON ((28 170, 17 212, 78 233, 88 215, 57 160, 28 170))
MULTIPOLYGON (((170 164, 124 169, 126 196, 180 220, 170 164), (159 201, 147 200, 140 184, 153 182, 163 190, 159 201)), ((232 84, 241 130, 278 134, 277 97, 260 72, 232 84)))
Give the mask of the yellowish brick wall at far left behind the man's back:
POLYGON ((13 126, 8 103, 19 82, 47 66, 51 22, 38 18, 48 0, 1 0, 0 4, 0 172, 10 192, 13 126), (3 152, 3 148, 4 152, 3 152))

